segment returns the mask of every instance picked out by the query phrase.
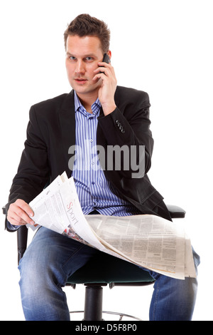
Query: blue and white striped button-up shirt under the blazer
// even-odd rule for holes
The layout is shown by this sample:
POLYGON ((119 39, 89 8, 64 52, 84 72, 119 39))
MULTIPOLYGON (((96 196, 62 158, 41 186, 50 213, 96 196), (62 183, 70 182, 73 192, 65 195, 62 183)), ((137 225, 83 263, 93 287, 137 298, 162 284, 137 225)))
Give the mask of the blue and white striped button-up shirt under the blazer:
POLYGON ((97 124, 101 108, 99 98, 88 113, 75 93, 75 163, 72 176, 84 215, 97 210, 102 215, 126 216, 140 214, 131 203, 114 195, 99 165, 97 155, 97 124))

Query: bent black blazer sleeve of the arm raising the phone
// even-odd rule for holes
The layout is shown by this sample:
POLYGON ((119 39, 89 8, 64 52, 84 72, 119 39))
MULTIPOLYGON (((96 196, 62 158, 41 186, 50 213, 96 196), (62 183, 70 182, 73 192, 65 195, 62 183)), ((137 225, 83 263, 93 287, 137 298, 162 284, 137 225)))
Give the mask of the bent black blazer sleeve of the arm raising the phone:
MULTIPOLYGON (((140 163, 143 163, 143 175, 151 168, 154 141, 150 130, 148 94, 135 90, 127 91, 126 93, 129 93, 127 95, 128 100, 126 97, 124 97, 124 100, 120 99, 121 103, 117 105, 112 113, 99 118, 99 125, 107 146, 111 145, 115 148, 116 145, 119 145, 121 148, 126 145, 129 148, 129 162, 126 165, 129 165, 129 169, 125 169, 123 165, 120 175, 132 178, 136 172, 136 166, 139 166, 140 163)), ((114 164, 114 168, 116 168, 116 164, 114 164)), ((143 177, 143 175, 138 174, 138 177, 143 177)))

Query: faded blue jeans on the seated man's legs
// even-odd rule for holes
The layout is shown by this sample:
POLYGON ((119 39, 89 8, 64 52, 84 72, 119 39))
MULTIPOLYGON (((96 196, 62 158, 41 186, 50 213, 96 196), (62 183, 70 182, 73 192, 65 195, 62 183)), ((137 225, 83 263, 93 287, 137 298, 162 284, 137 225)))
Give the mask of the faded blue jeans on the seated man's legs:
MULTIPOLYGON (((67 278, 99 251, 41 227, 18 266, 23 312, 27 321, 69 321, 67 278)), ((195 266, 199 257, 194 252, 195 266)), ((173 279, 150 272, 155 279, 150 320, 191 320, 197 279, 173 279)))

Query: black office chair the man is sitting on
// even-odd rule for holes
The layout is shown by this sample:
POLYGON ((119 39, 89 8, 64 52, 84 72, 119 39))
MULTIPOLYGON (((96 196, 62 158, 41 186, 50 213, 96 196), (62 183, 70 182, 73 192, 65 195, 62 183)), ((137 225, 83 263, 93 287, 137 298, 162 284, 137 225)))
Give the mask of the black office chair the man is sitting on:
MULTIPOLYGON (((185 217, 185 210, 175 205, 167 205, 172 219, 185 217)), ((5 214, 5 207, 3 207, 5 214)), ((18 246, 18 263, 23 257, 23 253, 27 247, 28 228, 21 226, 17 230, 17 246, 18 246)), ((74 311, 72 313, 84 313, 84 321, 102 321, 102 313, 118 314, 119 321, 124 316, 131 317, 136 320, 141 319, 123 313, 103 312, 102 311, 102 287, 109 284, 112 289, 115 286, 146 286, 153 284, 154 279, 151 275, 140 269, 130 262, 123 259, 113 257, 109 254, 102 252, 100 257, 90 260, 81 269, 72 274, 67 281, 67 286, 75 289, 76 284, 84 284, 85 298, 84 298, 84 311, 74 311)))

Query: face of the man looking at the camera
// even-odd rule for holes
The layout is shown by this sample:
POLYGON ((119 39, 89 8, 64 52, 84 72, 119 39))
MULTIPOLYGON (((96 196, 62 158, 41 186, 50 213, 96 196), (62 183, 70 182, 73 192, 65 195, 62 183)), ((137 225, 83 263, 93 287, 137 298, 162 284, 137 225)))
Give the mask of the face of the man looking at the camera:
POLYGON ((83 100, 94 97, 102 85, 101 80, 93 81, 94 70, 103 59, 99 38, 94 36, 68 36, 66 50, 67 76, 72 88, 83 100))

